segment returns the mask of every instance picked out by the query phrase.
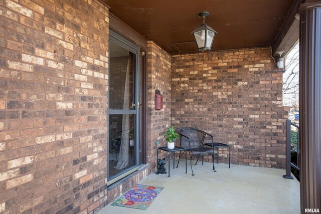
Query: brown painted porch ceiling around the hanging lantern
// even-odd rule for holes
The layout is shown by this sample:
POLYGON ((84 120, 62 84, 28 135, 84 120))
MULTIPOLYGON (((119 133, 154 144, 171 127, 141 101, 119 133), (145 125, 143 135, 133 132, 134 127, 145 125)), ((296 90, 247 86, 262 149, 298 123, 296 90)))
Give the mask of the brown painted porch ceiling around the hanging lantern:
POLYGON ((218 32, 212 50, 273 45, 293 0, 102 0, 110 12, 169 53, 197 52, 190 34, 202 24, 218 32))

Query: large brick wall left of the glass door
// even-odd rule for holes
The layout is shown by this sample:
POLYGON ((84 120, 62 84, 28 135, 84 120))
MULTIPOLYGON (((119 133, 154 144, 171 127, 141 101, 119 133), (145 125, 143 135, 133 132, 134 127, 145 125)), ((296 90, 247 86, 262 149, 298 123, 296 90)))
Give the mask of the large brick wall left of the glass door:
POLYGON ((0 212, 107 200, 108 8, 0 0, 0 212))

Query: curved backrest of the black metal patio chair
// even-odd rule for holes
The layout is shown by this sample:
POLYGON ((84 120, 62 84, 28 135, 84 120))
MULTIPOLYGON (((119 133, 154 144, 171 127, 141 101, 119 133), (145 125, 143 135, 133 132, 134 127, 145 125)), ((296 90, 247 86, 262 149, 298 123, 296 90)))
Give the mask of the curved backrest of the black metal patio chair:
POLYGON ((180 146, 183 148, 193 149, 213 142, 212 135, 196 128, 179 128, 176 132, 180 135, 180 146))

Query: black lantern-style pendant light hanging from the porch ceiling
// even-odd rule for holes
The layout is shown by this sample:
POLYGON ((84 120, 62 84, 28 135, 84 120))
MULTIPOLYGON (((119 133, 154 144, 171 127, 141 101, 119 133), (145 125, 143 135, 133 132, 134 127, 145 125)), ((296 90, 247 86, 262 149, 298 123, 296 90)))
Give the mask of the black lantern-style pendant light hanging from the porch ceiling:
POLYGON ((211 50, 215 34, 217 34, 217 32, 213 30, 213 28, 205 24, 205 17, 207 17, 208 15, 210 15, 209 12, 199 13, 199 16, 203 17, 203 25, 201 25, 191 33, 195 38, 195 42, 199 51, 211 50))

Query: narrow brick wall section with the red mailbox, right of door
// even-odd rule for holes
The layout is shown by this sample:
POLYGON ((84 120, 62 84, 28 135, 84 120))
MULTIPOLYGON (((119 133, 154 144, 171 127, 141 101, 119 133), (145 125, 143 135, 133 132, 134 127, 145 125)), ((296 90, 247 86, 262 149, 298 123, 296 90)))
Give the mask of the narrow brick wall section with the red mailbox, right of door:
MULTIPOLYGON (((171 88, 172 57, 154 42, 147 42, 147 161, 156 167, 156 150, 166 146, 164 138, 166 129, 171 126, 172 88, 171 88), (164 96, 163 109, 155 110, 155 90, 164 96), (156 141, 159 144, 156 145, 156 141)), ((159 153, 163 157, 163 153, 159 153)))

